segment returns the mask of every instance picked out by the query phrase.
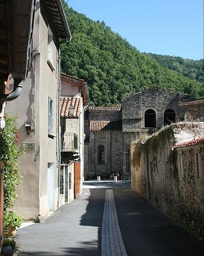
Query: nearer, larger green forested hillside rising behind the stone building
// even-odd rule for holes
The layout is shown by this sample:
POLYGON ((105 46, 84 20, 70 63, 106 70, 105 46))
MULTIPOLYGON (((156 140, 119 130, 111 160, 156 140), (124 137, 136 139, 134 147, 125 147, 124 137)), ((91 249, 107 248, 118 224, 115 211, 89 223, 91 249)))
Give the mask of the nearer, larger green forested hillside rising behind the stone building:
POLYGON ((90 105, 119 106, 122 99, 152 86, 203 97, 200 79, 189 79, 140 53, 104 22, 65 7, 72 40, 61 45, 62 73, 88 82, 90 105))

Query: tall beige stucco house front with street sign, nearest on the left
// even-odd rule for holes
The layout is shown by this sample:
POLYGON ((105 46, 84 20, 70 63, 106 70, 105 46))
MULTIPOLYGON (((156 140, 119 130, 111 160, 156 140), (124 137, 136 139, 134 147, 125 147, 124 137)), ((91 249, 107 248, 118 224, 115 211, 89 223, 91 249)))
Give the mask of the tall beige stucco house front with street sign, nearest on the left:
POLYGON ((16 190, 16 211, 24 219, 39 214, 46 218, 59 206, 59 35, 54 26, 49 29, 45 7, 44 1, 36 6, 31 62, 22 93, 6 106, 9 114, 19 112, 18 144, 32 144, 20 159, 23 178, 16 190), (26 127, 27 121, 31 127, 26 127))

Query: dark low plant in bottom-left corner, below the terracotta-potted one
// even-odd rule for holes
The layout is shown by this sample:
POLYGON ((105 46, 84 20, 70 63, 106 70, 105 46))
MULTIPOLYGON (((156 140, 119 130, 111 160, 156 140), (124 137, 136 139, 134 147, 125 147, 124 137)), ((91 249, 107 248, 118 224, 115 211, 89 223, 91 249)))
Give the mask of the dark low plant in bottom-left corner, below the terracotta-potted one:
POLYGON ((20 246, 13 238, 4 238, 1 255, 17 255, 20 246))

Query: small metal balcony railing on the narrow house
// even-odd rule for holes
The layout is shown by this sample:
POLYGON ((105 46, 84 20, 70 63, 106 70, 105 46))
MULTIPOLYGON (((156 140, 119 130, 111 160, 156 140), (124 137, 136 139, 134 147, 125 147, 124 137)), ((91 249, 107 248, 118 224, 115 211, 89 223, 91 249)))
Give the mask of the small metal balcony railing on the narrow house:
POLYGON ((75 133, 61 133, 61 151, 77 151, 78 136, 75 133))

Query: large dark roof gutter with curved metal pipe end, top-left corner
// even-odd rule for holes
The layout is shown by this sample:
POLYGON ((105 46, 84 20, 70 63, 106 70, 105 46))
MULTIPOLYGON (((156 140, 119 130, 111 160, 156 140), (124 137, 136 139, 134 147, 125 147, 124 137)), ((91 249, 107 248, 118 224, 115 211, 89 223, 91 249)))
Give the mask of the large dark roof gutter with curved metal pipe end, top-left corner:
POLYGON ((25 79, 28 68, 35 3, 36 0, 7 1, 8 47, 11 59, 9 69, 14 78, 14 88, 11 93, 0 95, 0 104, 16 99, 22 91, 22 86, 19 83, 25 79))

